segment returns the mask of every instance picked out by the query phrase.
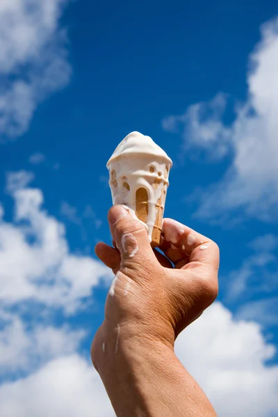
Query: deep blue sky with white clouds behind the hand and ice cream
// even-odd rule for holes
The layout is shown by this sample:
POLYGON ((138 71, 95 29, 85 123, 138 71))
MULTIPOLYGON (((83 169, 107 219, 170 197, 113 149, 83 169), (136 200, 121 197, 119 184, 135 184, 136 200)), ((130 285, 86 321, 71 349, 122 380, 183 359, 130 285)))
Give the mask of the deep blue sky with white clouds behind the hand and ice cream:
POLYGON ((165 215, 221 251, 218 302, 177 354, 219 416, 278 416, 277 16, 1 2, 0 414, 114 415, 89 361, 111 281, 94 246, 110 242, 106 161, 137 130, 174 162, 165 215))

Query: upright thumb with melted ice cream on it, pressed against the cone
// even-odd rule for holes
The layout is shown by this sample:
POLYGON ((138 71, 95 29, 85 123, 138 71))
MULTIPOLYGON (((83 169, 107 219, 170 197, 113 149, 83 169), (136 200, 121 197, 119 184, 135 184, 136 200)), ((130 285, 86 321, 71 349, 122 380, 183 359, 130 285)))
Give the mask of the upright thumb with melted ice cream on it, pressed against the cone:
POLYGON ((147 234, 147 226, 140 222, 134 211, 120 204, 108 212, 111 235, 121 254, 121 268, 136 268, 136 265, 147 268, 158 263, 147 234), (148 266, 147 266, 148 265, 148 266))

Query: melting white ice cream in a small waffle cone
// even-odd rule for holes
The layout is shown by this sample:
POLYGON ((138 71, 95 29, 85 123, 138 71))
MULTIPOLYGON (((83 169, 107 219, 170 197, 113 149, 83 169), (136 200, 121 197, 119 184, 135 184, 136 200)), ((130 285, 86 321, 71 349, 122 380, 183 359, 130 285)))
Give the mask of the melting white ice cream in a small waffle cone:
POLYGON ((159 245, 171 159, 152 138, 132 132, 117 146, 107 167, 113 204, 134 211, 147 224, 152 246, 159 245))

